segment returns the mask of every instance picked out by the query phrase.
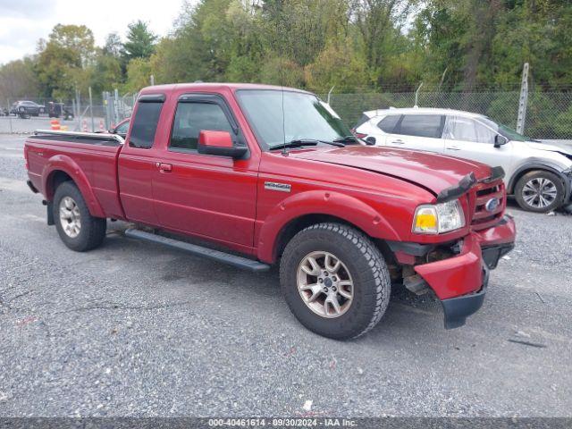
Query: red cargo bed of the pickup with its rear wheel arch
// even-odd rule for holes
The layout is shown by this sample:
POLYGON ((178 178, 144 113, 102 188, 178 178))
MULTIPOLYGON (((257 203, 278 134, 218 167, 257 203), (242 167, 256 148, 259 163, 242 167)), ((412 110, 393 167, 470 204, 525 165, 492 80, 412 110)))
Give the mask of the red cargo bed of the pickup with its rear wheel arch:
POLYGON ((64 172, 91 197, 88 205, 93 214, 122 219, 117 181, 122 143, 123 139, 113 134, 37 130, 24 149, 29 179, 50 198, 53 181, 64 172))

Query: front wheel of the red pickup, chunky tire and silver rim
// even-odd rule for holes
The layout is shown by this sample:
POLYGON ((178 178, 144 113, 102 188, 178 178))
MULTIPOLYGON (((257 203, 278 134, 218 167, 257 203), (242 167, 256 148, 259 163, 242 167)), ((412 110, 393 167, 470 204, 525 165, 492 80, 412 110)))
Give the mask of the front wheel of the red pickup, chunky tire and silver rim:
POLYGON ((282 295, 299 322, 308 330, 334 340, 357 338, 372 329, 385 313, 391 295, 390 273, 379 249, 365 234, 341 223, 318 223, 299 231, 282 254, 280 281, 282 295), (327 265, 327 255, 330 266, 339 266, 337 272, 329 274, 336 283, 326 283, 328 277, 324 277, 327 270, 322 266, 327 265), (307 272, 310 266, 315 273, 320 271, 309 264, 308 257, 315 257, 320 276, 307 272), (318 292, 320 288, 301 290, 310 287, 306 282, 315 282, 312 286, 321 282, 320 288, 330 288, 327 293, 324 289, 318 292), (342 282, 351 282, 351 288, 341 286, 342 282), (344 295, 342 288, 346 288, 344 295), (318 293, 319 298, 312 300, 318 293), (345 298, 348 295, 351 299, 345 298), (331 296, 338 302, 339 313, 332 306, 331 296))

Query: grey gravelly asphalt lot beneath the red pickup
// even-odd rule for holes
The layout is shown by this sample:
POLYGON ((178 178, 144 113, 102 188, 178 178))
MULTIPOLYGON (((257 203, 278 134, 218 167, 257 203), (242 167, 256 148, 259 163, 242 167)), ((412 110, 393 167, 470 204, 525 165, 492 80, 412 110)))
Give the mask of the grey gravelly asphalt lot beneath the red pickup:
POLYGON ((517 248, 465 327, 396 291, 372 332, 339 342, 296 321, 275 271, 122 223, 97 250, 65 248, 22 144, 0 136, 0 416, 572 416, 571 216, 509 209, 517 248))

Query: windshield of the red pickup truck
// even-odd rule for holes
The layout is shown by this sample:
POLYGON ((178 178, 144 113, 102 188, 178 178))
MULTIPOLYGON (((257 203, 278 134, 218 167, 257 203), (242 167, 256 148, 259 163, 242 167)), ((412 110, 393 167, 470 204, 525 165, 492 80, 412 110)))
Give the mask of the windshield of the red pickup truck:
MULTIPOLYGON (((277 89, 240 89, 240 106, 265 148, 294 140, 333 141, 351 136, 332 107, 312 94, 277 89), (284 114, 282 115, 282 97, 284 114)), ((357 140, 344 140, 357 144, 357 140)))

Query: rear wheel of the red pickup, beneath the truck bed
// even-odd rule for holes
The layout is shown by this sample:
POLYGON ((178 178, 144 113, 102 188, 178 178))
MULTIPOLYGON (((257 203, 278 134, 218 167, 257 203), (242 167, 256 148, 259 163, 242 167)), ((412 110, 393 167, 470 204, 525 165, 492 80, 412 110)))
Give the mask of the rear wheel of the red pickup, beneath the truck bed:
POLYGON ((106 219, 89 213, 80 189, 72 181, 64 181, 55 189, 53 210, 55 228, 71 250, 85 252, 97 248, 105 239, 106 219))

